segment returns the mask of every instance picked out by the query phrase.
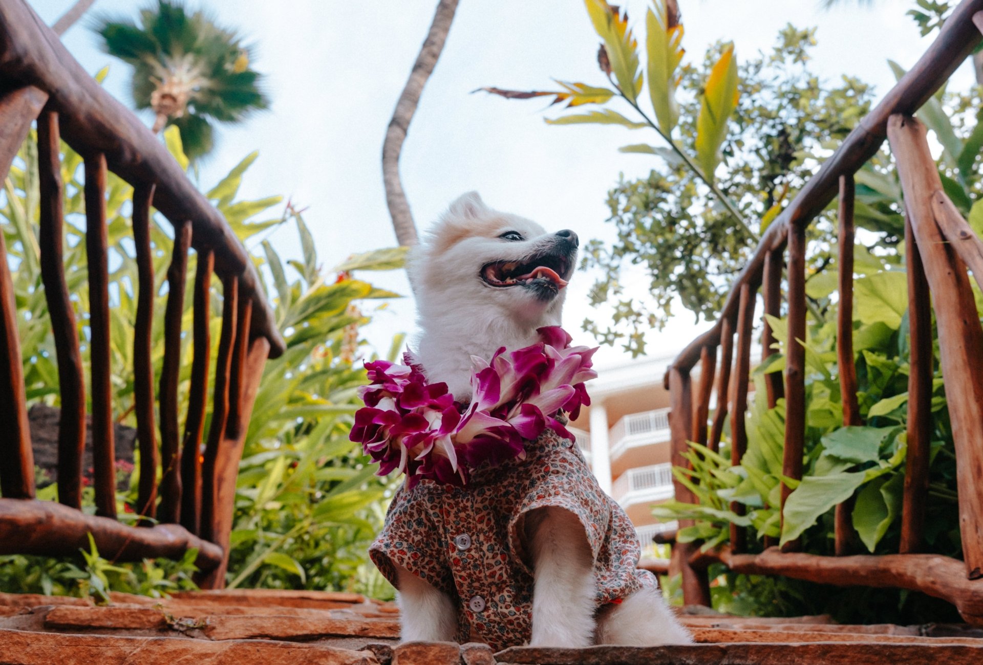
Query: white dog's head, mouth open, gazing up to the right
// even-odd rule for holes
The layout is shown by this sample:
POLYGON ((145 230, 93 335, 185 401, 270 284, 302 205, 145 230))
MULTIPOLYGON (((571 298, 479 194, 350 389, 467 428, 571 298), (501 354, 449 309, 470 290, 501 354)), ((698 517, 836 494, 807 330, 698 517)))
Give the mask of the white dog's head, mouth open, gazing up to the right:
POLYGON ((492 210, 471 192, 451 203, 413 250, 410 278, 418 299, 491 305, 536 324, 546 314, 558 319, 577 245, 573 231, 547 233, 532 220, 492 210))

